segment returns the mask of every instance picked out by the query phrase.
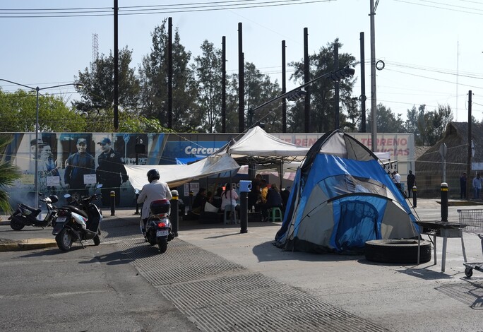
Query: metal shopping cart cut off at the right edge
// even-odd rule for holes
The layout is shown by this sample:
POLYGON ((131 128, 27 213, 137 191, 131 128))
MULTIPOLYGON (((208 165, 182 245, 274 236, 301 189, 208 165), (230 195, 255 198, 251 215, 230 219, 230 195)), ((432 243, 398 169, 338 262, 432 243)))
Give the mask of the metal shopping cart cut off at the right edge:
MULTIPOLYGON (((483 252, 483 209, 458 209, 458 215, 461 225, 466 225, 463 228, 463 232, 472 233, 478 235, 482 239, 482 252, 483 252)), ((461 237, 461 247, 463 249, 463 258, 465 259, 465 275, 471 278, 473 275, 473 269, 483 272, 483 262, 469 263, 466 259, 465 243, 463 237, 461 237)))

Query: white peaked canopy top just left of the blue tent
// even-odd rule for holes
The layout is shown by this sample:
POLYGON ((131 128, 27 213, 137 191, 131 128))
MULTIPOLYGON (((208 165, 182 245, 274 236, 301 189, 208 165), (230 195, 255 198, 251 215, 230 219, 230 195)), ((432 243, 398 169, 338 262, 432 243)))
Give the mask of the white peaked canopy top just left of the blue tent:
POLYGON ((280 162, 302 161, 309 148, 282 141, 255 126, 224 150, 240 164, 280 165, 280 162))

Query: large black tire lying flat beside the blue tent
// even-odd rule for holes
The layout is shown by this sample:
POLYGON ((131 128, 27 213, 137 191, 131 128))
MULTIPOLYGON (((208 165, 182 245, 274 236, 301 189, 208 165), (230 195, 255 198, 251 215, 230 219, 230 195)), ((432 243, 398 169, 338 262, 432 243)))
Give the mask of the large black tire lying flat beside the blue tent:
MULTIPOLYGON (((366 242, 368 261, 379 263, 417 263, 417 239, 374 239, 366 242)), ((431 242, 421 240, 419 263, 431 261, 431 242)))

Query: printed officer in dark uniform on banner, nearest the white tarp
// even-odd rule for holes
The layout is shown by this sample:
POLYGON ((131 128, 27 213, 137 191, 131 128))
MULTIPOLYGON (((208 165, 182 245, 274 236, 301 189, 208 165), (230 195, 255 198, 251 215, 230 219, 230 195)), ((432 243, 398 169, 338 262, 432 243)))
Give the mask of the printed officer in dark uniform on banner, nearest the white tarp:
POLYGON ((97 182, 102 184, 102 204, 109 206, 111 201, 111 191, 116 193, 116 206, 121 201, 121 184, 129 179, 121 160, 121 155, 111 147, 111 140, 107 137, 97 142, 101 146, 102 153, 97 157, 97 182))

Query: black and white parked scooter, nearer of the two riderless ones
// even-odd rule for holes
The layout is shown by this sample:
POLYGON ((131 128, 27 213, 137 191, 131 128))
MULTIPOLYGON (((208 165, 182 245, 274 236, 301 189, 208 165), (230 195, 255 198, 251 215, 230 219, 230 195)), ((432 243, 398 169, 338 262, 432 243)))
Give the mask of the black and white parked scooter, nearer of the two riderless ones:
POLYGON ((88 239, 93 239, 96 246, 100 244, 102 211, 93 203, 100 196, 101 194, 94 194, 75 199, 66 194, 69 203, 59 208, 57 219, 53 223, 52 235, 55 235, 59 249, 69 251, 73 242, 81 242, 84 248, 83 241, 88 239))

